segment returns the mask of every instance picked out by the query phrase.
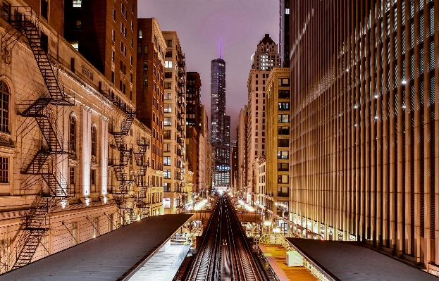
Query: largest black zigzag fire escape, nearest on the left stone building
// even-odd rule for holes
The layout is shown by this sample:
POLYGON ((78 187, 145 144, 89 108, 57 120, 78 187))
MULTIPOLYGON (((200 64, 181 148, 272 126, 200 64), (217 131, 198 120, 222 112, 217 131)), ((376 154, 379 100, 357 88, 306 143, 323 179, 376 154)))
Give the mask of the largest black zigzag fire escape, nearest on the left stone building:
POLYGON ((18 106, 19 115, 35 118, 44 144, 22 171, 28 176, 20 189, 23 192, 35 186, 38 189, 35 200, 23 217, 21 232, 11 254, 2 266, 1 271, 7 272, 32 261, 43 235, 49 230, 50 220, 47 213, 50 208, 60 203, 64 206, 63 204, 74 196, 74 190, 67 185, 66 179, 57 167, 68 152, 63 147, 63 135, 56 126, 56 119, 60 117, 58 114, 63 114, 62 109, 57 106, 74 106, 75 101, 64 92, 56 61, 47 44, 48 37, 44 35, 37 13, 30 7, 8 7, 6 11, 3 9, 1 12, 1 17, 11 25, 2 38, 2 53, 11 54, 11 48, 22 35, 25 35, 47 87, 47 92, 39 99, 18 106))

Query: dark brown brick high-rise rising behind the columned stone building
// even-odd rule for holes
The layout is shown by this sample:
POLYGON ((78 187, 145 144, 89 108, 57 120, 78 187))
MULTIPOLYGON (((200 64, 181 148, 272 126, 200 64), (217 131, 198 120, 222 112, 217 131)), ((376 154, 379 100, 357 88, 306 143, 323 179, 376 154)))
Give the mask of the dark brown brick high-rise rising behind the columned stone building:
POLYGON ((135 104, 137 0, 61 2, 64 38, 135 104))

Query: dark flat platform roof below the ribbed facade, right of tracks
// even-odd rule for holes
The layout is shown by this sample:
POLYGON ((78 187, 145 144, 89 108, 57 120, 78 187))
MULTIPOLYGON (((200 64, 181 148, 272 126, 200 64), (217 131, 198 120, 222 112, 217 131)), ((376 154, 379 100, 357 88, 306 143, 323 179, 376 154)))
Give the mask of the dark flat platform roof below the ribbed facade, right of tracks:
POLYGON ((287 238, 302 256, 326 273, 329 280, 423 280, 438 277, 361 246, 357 242, 287 238))

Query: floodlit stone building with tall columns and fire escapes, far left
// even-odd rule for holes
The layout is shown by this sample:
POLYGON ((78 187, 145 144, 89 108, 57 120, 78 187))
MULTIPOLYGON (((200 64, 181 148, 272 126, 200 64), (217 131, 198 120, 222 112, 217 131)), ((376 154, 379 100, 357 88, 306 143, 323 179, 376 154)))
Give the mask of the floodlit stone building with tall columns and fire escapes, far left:
POLYGON ((163 213, 151 130, 128 88, 63 38, 58 4, 1 3, 1 273, 163 213))

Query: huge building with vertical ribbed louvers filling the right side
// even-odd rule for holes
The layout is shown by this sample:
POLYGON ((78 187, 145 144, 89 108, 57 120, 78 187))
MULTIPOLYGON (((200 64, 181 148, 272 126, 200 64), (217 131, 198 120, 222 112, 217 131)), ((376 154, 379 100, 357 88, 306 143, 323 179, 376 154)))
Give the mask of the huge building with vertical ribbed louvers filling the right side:
POLYGON ((439 270, 438 1, 295 1, 290 219, 439 270))

